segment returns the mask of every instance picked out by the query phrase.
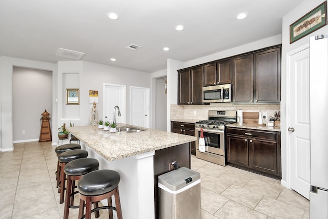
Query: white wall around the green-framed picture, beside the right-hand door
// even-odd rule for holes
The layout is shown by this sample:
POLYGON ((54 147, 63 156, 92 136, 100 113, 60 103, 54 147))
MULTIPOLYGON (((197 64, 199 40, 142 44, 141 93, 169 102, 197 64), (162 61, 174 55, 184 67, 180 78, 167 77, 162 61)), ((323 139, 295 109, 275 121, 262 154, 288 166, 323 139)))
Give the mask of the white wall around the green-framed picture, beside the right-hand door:
MULTIPOLYGON (((282 181, 284 184, 289 184, 288 174, 289 169, 286 163, 287 156, 287 135, 289 124, 286 123, 286 95, 287 95, 287 84, 286 84, 286 54, 309 43, 309 37, 318 34, 327 34, 328 26, 324 26, 315 32, 304 36, 298 41, 290 44, 289 28, 290 25, 301 18, 306 13, 317 7, 323 2, 323 0, 304 0, 301 4, 294 8, 291 12, 286 14, 282 19, 282 54, 281 54, 281 169, 282 169, 282 181)), ((293 112, 290 112, 292 115, 293 112)))

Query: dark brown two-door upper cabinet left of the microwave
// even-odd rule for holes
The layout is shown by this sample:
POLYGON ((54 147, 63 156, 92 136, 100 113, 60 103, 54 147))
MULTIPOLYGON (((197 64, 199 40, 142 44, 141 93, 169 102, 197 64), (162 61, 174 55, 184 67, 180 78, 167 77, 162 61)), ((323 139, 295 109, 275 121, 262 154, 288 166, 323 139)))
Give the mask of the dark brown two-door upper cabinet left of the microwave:
POLYGON ((178 105, 201 105, 203 67, 178 70, 178 105))

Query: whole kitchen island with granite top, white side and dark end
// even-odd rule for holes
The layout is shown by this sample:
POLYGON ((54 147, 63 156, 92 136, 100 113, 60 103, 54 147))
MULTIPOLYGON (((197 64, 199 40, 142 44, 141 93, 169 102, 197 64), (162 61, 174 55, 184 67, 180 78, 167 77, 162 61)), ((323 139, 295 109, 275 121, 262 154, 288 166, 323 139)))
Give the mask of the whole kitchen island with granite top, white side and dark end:
MULTIPOLYGON (((118 127, 132 127, 118 124, 118 127)), ((138 127, 139 132, 110 133, 96 126, 67 127, 80 140, 99 169, 119 172, 120 201, 124 218, 157 218, 157 177, 169 163, 190 168, 190 142, 194 136, 138 127)), ((115 214, 116 215, 116 214, 115 214)))

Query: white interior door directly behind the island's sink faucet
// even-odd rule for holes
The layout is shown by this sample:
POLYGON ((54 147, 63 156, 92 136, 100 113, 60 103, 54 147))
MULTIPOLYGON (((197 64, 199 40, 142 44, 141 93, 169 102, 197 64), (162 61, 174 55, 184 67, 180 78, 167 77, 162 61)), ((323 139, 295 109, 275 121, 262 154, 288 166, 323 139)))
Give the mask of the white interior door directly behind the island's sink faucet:
POLYGON ((121 116, 117 116, 116 110, 116 123, 126 123, 126 86, 104 83, 104 122, 113 122, 115 106, 121 112, 121 116))

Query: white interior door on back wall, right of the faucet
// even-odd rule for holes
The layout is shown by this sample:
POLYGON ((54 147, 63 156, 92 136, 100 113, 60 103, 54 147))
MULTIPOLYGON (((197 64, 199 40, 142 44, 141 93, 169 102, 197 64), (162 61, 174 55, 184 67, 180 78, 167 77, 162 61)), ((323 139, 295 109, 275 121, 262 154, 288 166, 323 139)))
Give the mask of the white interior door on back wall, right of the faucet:
POLYGON ((149 128, 150 111, 149 88, 130 87, 130 122, 131 125, 149 128))

